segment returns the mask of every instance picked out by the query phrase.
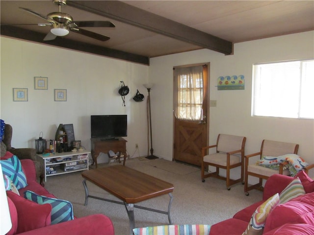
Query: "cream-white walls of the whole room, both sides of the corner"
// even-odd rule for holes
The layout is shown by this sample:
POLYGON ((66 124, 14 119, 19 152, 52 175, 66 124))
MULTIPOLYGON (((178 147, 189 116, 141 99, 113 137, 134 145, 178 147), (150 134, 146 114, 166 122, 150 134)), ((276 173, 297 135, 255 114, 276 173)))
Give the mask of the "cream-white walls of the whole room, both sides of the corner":
MULTIPOLYGON (((150 67, 86 53, 1 37, 1 119, 14 128, 14 147, 33 147, 39 132, 53 139, 59 123, 73 123, 75 136, 90 148, 90 115, 128 114, 127 149, 138 143, 147 153, 146 102, 132 96, 148 81, 151 91, 153 147, 172 160, 173 66, 210 62, 209 143, 219 133, 247 137, 246 153, 257 152, 263 139, 296 142, 299 154, 314 163, 314 120, 251 117, 252 65, 257 62, 314 57, 314 31, 235 44, 234 55, 208 49, 151 58, 150 67), (218 76, 245 76, 244 91, 217 91, 218 76), (34 76, 48 77, 48 90, 34 90, 34 76), (124 80, 131 92, 122 106, 117 91, 124 80), (28 88, 28 102, 13 102, 12 88, 28 88), (53 89, 67 89, 67 102, 53 101, 53 89)), ((313 107, 309 107, 313 108, 313 107)), ((138 153, 135 153, 138 156, 138 153)))

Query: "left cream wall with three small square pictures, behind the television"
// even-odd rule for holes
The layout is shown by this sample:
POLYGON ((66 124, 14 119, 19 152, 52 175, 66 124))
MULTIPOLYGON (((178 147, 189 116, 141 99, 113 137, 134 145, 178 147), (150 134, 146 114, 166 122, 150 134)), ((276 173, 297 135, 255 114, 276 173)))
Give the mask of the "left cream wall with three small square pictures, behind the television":
MULTIPOLYGON (((75 139, 90 149, 90 115, 128 115, 127 151, 147 153, 146 102, 135 102, 136 89, 147 96, 148 66, 1 37, 1 119, 13 127, 13 147, 34 147, 42 131, 54 139, 59 123, 73 123, 75 139), (34 77, 48 77, 48 90, 34 90, 34 77), (130 88, 126 107, 118 90, 130 88), (14 102, 13 88, 27 88, 28 101, 14 102), (67 101, 54 101, 54 89, 67 89, 67 101)), ((100 159, 99 162, 102 162, 100 159)))

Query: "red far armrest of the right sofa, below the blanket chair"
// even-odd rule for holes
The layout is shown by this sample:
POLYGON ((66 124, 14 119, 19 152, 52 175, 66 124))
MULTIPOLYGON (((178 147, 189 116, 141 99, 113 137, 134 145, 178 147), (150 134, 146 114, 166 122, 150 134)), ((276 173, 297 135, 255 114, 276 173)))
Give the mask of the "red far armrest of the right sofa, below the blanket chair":
POLYGON ((263 200, 267 200, 277 192, 281 193, 292 180, 293 177, 287 175, 274 174, 270 176, 264 186, 263 200))

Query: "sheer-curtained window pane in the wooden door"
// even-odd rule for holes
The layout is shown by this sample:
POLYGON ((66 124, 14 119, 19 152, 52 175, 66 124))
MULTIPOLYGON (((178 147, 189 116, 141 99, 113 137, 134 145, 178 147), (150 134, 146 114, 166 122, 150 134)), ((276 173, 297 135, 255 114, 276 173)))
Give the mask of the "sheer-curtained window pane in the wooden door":
MULTIPOLYGON (((207 68, 207 67, 206 67, 207 68)), ((183 120, 201 120, 203 105, 203 66, 174 69, 175 115, 183 120)))

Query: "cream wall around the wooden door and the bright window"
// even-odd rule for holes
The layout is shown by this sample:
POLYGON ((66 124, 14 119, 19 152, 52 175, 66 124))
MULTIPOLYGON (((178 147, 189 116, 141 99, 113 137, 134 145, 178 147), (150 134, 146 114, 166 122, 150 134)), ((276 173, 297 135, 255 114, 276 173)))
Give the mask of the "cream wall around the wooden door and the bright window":
MULTIPOLYGON (((314 58, 314 31, 237 43, 234 55, 208 49, 151 58, 149 78, 156 86, 151 92, 153 145, 156 155, 172 159, 173 70, 174 66, 210 62, 209 143, 219 133, 245 136, 246 154, 258 152, 263 139, 300 144, 299 155, 314 163, 314 120, 251 116, 252 65, 260 62, 314 58), (217 91, 219 76, 245 76, 244 91, 217 91)), ((280 89, 280 88, 279 88, 280 89)), ((313 107, 309 107, 313 108, 313 107)))

